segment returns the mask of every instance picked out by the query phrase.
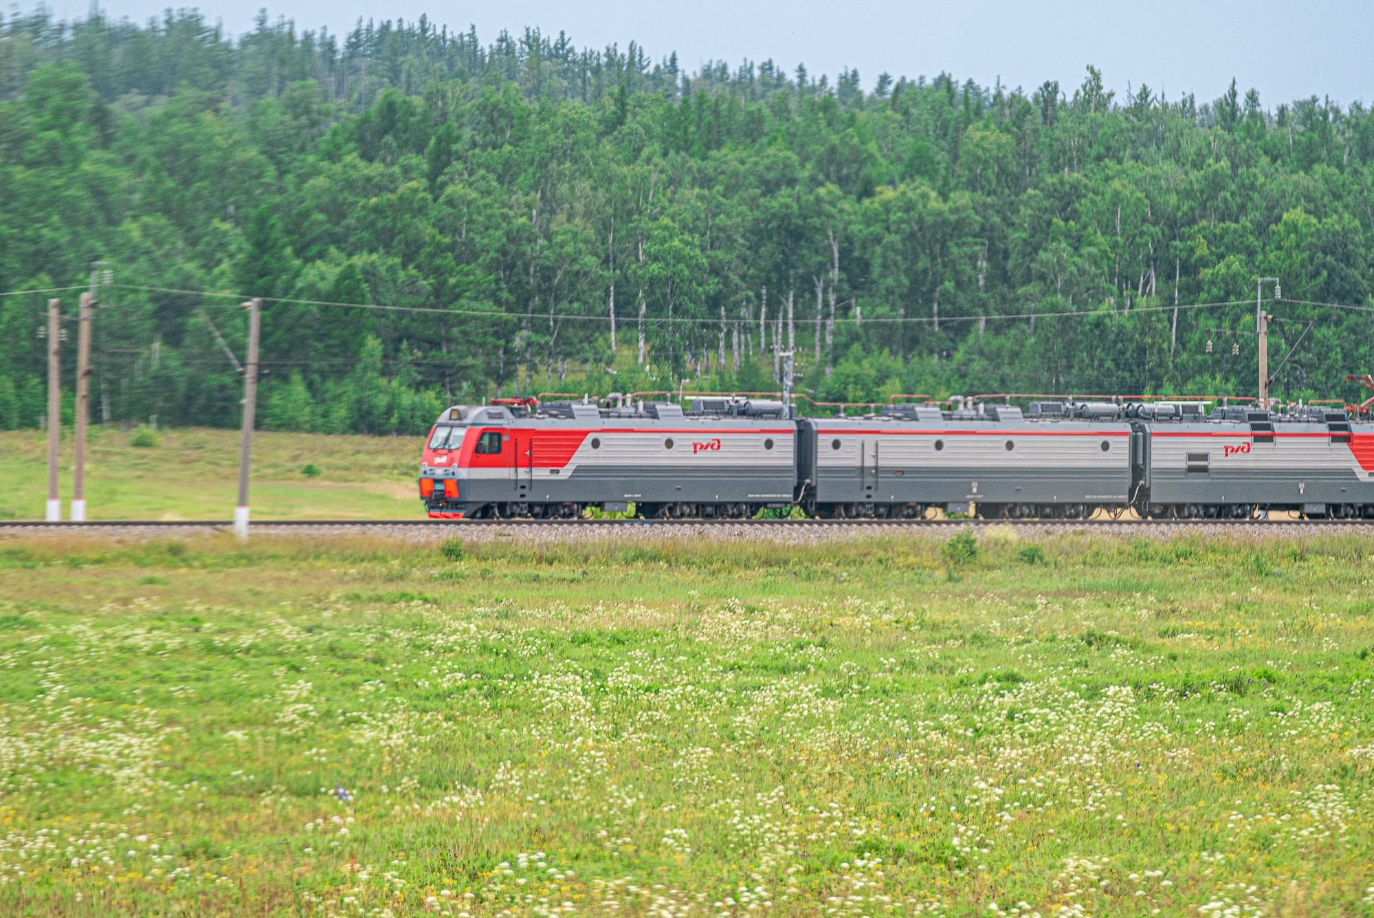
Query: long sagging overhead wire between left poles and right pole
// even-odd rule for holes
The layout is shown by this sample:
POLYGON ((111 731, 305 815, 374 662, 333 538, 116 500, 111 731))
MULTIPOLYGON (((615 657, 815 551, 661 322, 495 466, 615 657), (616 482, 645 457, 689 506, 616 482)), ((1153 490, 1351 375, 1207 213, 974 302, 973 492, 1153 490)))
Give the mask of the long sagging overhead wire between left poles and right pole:
MULTIPOLYGON (((137 286, 137 284, 111 284, 121 287, 124 290, 139 290, 144 293, 173 293, 185 294, 192 297, 218 297, 224 300, 246 300, 246 294, 239 293, 214 293, 209 290, 181 290, 177 287, 153 287, 153 286, 137 286)), ((605 315, 577 315, 577 313, 561 313, 561 312, 497 312, 492 309, 445 309, 438 306, 397 306, 389 304, 376 302, 337 302, 331 300, 298 300, 294 297, 261 297, 264 302, 276 302, 286 305, 302 305, 302 306, 338 306, 342 309, 379 309, 386 312, 416 312, 427 315, 441 315, 441 316, 478 316, 488 319, 550 319, 550 320, 565 320, 572 319, 577 322, 610 322, 610 316, 605 315)), ((1224 306, 1249 306, 1249 300, 1227 300, 1220 302, 1190 302, 1169 306, 1138 306, 1135 309, 1065 309, 1055 312, 1014 312, 1014 313, 985 313, 976 316, 874 316, 864 320, 857 319, 835 319, 835 323, 871 323, 871 324, 936 324, 940 322, 977 322, 977 320, 1007 320, 1007 319, 1063 319, 1063 317, 1081 317, 1081 316, 1121 316, 1121 315, 1135 315, 1140 312, 1171 312, 1173 309, 1217 309, 1224 306)), ((1322 304, 1325 305, 1325 304, 1322 304)), ((813 319, 809 319, 813 322, 813 319)), ((617 316, 617 322, 621 324, 636 324, 640 319, 635 315, 617 316)), ((703 324, 703 326, 732 326, 743 319, 713 319, 713 317, 690 317, 690 316, 644 316, 644 323, 654 324, 703 324)), ((752 322, 752 320, 750 320, 752 322)), ((801 322, 801 320, 798 320, 801 322)))

